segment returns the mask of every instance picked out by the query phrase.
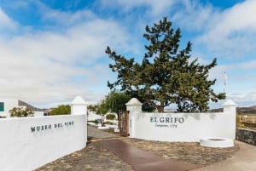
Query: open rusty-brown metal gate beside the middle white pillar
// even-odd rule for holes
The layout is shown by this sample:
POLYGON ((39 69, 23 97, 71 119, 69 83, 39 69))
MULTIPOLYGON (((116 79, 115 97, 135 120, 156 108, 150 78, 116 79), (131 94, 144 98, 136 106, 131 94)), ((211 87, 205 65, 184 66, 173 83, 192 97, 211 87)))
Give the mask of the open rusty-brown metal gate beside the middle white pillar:
POLYGON ((119 111, 119 131, 122 136, 129 136, 129 111, 119 111))

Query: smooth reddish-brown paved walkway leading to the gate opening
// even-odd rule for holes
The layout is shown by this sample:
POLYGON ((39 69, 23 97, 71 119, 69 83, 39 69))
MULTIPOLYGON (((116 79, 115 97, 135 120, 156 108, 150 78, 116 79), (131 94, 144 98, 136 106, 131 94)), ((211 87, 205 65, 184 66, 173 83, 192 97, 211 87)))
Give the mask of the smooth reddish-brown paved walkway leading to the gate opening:
POLYGON ((166 160, 122 140, 102 140, 99 143, 105 145, 109 151, 113 151, 119 158, 131 165, 135 171, 186 171, 201 167, 201 165, 188 162, 166 160))

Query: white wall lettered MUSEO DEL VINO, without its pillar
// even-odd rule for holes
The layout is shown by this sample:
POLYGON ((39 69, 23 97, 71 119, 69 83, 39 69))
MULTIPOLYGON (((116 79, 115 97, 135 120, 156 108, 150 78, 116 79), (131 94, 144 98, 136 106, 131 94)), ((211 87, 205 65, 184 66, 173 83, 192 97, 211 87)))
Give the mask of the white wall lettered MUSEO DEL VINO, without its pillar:
POLYGON ((1 171, 29 171, 86 146, 86 115, 0 119, 1 171))

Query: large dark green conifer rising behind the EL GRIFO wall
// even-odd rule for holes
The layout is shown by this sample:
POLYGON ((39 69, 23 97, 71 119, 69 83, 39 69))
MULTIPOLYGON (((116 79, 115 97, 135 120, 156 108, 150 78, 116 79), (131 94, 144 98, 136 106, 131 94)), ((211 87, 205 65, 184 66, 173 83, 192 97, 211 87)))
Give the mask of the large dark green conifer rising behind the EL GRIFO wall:
POLYGON ((191 60, 192 44, 188 42, 186 48, 179 49, 181 31, 174 31, 166 17, 152 27, 146 26, 143 37, 148 45, 141 64, 107 47, 106 53, 114 61, 109 67, 118 74, 116 82, 108 82, 109 88, 120 88, 158 111, 171 103, 177 104, 177 111, 206 111, 210 100, 225 98, 225 94, 216 94, 211 88, 216 79, 208 79, 217 60, 208 65, 191 60))

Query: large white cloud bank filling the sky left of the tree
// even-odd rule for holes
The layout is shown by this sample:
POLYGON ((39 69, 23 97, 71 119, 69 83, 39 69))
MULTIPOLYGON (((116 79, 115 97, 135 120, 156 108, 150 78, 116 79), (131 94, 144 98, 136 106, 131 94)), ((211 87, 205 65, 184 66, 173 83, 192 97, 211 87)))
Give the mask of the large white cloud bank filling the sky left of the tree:
MULTIPOLYGON (((56 15, 55 20, 63 17, 56 15)), ((136 49, 121 27, 113 20, 95 18, 76 20, 76 25, 60 32, 56 28, 0 37, 0 96, 39 106, 72 100, 76 95, 90 102, 100 100, 106 95, 102 87, 108 89, 107 45, 122 52, 136 49)))

